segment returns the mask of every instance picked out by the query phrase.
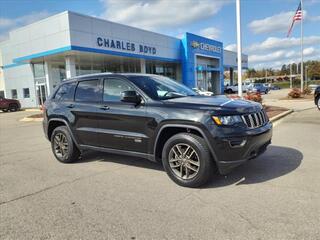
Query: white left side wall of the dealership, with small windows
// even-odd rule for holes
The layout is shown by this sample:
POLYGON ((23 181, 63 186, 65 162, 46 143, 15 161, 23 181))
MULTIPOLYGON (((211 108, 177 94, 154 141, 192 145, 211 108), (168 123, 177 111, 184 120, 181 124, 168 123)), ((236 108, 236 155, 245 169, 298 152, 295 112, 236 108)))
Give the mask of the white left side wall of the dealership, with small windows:
MULTIPOLYGON (((22 28, 13 30, 9 40, 0 43, 2 52, 5 95, 11 98, 11 89, 17 89, 18 100, 23 108, 36 107, 36 91, 30 60, 27 64, 11 66, 15 59, 49 52, 70 46, 68 12, 63 12, 22 28), (8 67, 9 66, 9 67, 8 67), (29 88, 30 98, 23 98, 23 88, 29 88)), ((39 56, 42 57, 42 56, 39 56)), ((44 61, 38 58, 37 61, 44 61)), ((49 74, 50 76, 50 74, 49 74)), ((50 86, 49 86, 50 87, 50 86)), ((51 88, 50 88, 51 89, 51 88)))

